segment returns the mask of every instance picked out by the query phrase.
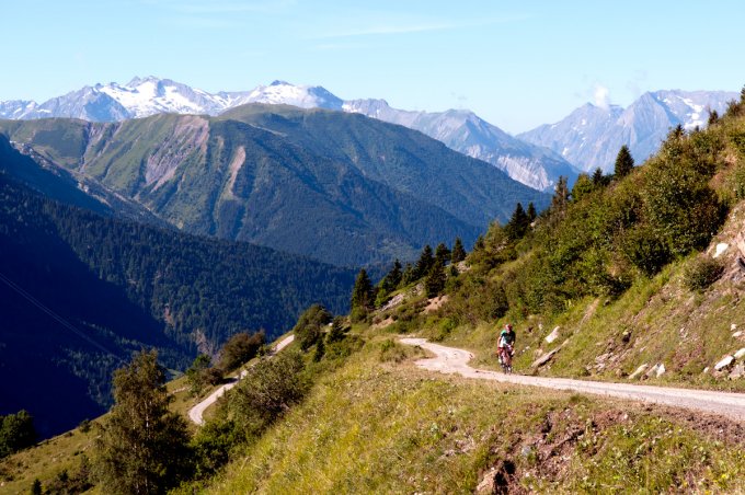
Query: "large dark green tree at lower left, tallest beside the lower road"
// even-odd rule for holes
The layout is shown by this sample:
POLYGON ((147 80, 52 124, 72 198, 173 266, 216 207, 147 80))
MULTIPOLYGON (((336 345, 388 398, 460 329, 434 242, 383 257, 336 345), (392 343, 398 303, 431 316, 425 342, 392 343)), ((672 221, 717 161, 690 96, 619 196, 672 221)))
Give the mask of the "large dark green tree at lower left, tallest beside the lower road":
POLYGON ((169 411, 171 400, 156 350, 142 350, 116 370, 115 404, 96 440, 105 493, 164 493, 179 483, 188 434, 183 417, 169 411))

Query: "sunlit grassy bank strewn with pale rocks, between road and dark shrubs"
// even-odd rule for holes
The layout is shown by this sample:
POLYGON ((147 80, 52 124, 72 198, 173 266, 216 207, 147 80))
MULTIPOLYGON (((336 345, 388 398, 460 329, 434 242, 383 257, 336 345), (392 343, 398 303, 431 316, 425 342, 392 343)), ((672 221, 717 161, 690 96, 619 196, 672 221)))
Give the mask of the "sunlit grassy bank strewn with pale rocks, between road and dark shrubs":
MULTIPOLYGON (((724 275, 703 292, 686 288, 683 278, 696 255, 668 265, 650 279, 638 280, 618 300, 585 298, 566 311, 546 318, 534 315, 517 325, 516 366, 520 372, 623 380, 640 365, 665 365, 665 373, 652 382, 745 391, 743 380, 717 379, 711 372, 723 356, 745 347, 745 338, 733 337, 745 327, 744 274, 737 267, 740 226, 745 221, 745 203, 730 214, 727 222, 707 250, 712 255, 720 243, 729 245, 720 260, 724 275), (734 325, 734 327, 733 327, 734 325), (545 337, 559 326, 559 338, 545 337), (628 342, 624 339, 628 335, 628 342), (543 353, 562 349, 538 371, 530 365, 543 353), (538 352, 540 349, 540 352, 538 352)), ((508 318, 494 324, 461 325, 442 335, 436 318, 422 332, 445 343, 472 350, 474 364, 496 368, 494 349, 498 330, 508 318)))

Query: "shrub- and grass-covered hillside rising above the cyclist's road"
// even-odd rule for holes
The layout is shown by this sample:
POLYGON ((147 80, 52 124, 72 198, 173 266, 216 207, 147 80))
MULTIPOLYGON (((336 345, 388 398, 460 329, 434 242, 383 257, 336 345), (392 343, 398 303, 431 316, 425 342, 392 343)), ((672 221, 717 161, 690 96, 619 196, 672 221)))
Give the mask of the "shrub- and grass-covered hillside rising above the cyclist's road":
POLYGON ((466 346, 481 366, 513 322, 523 372, 743 389, 742 361, 715 369, 745 347, 743 106, 672 129, 626 176, 559 188, 532 223, 516 210, 493 225, 436 314, 404 303, 377 320, 466 346))

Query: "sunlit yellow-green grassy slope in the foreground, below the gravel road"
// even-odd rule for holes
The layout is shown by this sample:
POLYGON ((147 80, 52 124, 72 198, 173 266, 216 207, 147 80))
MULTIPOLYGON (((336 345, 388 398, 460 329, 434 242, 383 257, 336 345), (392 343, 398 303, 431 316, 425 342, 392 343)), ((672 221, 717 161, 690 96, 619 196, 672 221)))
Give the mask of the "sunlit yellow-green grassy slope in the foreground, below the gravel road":
POLYGON ((742 427, 426 373, 380 349, 323 379, 209 492, 471 493, 505 461, 513 487, 538 491, 745 490, 742 427))

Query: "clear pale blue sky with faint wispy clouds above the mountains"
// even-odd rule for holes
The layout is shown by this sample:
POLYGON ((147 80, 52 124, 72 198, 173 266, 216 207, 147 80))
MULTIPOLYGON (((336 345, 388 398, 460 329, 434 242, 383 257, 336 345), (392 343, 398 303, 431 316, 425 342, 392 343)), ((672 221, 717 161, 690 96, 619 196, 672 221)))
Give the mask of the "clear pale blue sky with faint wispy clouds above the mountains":
POLYGON ((0 101, 134 76, 207 91, 280 79, 401 108, 471 108, 519 133, 596 99, 745 83, 734 0, 3 3, 0 101))

